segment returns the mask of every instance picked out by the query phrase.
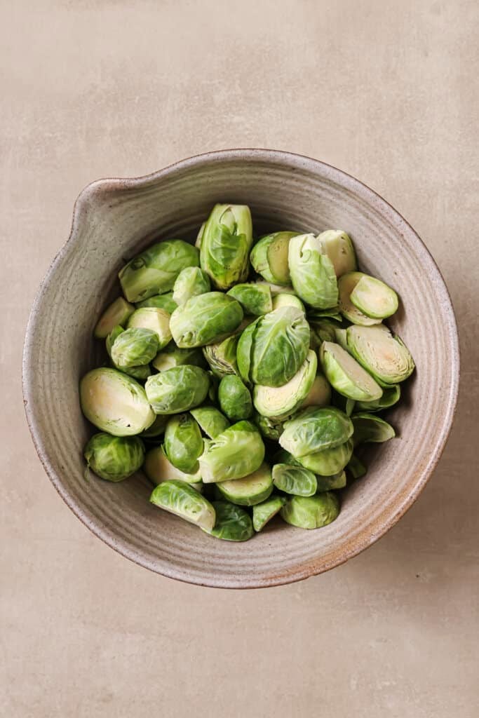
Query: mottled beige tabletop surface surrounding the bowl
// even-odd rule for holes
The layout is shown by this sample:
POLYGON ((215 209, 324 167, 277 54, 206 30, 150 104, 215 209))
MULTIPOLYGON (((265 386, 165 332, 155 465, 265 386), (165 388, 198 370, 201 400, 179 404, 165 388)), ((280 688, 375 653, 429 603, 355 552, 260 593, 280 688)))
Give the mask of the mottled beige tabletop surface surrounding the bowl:
POLYGON ((0 7, 0 715, 477 716, 477 3, 0 7), (20 382, 80 189, 231 146, 378 190, 437 259, 462 344, 457 421, 417 504, 349 564, 251 592, 162 579, 91 536, 39 465, 20 382))

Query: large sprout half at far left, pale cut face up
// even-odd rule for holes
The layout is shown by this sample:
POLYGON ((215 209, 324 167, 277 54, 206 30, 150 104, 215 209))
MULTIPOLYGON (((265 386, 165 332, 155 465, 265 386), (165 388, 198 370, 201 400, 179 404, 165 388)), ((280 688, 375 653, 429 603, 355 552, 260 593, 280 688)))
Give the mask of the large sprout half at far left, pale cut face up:
POLYGON ((139 434, 154 421, 144 388, 116 369, 101 367, 85 374, 80 404, 88 421, 115 437, 139 434))

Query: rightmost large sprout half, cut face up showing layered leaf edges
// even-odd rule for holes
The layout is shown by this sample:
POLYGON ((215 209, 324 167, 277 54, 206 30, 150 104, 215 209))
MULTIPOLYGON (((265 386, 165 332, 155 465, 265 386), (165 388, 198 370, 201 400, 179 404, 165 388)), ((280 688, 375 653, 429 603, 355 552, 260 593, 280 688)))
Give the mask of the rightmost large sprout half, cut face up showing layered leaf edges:
POLYGON ((384 325, 349 327, 348 347, 354 358, 382 383, 397 384, 414 371, 409 349, 384 325))

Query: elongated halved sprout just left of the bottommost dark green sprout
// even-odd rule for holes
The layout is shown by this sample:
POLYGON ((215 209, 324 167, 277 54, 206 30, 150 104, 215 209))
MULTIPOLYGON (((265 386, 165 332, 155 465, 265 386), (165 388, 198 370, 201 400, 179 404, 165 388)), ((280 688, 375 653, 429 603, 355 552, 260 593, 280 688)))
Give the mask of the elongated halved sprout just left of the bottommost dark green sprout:
POLYGON ((216 514, 213 505, 183 481, 163 481, 152 491, 149 500, 159 508, 184 518, 185 521, 211 531, 216 514))

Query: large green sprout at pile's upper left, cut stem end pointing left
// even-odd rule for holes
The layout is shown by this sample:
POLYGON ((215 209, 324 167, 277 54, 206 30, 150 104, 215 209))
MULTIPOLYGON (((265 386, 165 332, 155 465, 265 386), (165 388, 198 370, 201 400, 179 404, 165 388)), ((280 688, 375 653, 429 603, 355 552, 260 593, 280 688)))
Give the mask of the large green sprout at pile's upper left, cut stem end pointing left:
POLYGON ((169 292, 182 269, 199 264, 196 247, 181 239, 172 239, 153 244, 131 259, 118 278, 126 299, 140 302, 154 294, 169 292))

